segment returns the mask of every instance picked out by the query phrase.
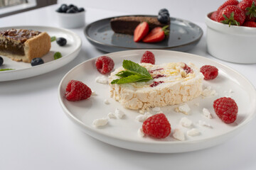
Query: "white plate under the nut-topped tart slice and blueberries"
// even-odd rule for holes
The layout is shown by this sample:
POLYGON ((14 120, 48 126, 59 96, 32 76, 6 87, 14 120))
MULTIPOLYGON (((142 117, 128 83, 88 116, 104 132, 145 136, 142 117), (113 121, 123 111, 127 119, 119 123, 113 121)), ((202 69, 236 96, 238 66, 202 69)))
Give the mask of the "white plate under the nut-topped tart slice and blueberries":
POLYGON ((33 77, 63 67, 65 64, 68 64, 70 61, 75 59, 75 57, 80 52, 82 46, 82 40, 80 37, 78 37, 78 35, 70 30, 66 30, 63 28, 44 26, 13 26, 0 28, 0 30, 7 30, 11 28, 39 30, 41 32, 46 31, 50 35, 50 37, 55 36, 56 38, 66 38, 67 45, 60 47, 56 43, 56 41, 51 42, 50 52, 42 57, 45 63, 34 67, 32 67, 30 63, 15 62, 8 57, 2 56, 4 58, 4 64, 0 67, 0 69, 15 70, 0 72, 0 81, 9 81, 33 77), (53 55, 55 52, 60 52, 63 57, 58 60, 54 60, 53 55))

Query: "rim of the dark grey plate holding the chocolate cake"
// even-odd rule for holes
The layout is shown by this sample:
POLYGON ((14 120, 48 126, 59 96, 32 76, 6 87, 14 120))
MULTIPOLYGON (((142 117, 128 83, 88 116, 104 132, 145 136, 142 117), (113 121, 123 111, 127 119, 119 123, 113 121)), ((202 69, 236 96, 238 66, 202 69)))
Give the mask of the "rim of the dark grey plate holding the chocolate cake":
MULTIPOLYGON (((123 16, 154 16, 154 15, 123 15, 123 16)), ((100 45, 105 45, 105 46, 108 46, 108 47, 120 47, 120 46, 117 46, 117 45, 110 45, 110 44, 106 44, 104 42, 100 42, 100 41, 97 41, 97 40, 94 40, 92 39, 89 35, 88 35, 88 31, 89 29, 92 27, 93 24, 95 23, 100 23, 102 21, 107 21, 107 20, 110 20, 112 18, 117 18, 117 17, 123 17, 123 16, 112 16, 112 17, 109 17, 109 18, 103 18, 103 19, 100 19, 100 20, 97 20, 97 21, 94 21, 92 23, 90 23, 89 25, 87 25, 85 28, 84 28, 84 34, 85 34, 85 38, 87 38, 87 40, 89 41, 92 41, 94 43, 97 43, 97 44, 100 44, 100 45)), ((156 16, 154 16, 156 17, 156 16)), ((170 17, 170 18, 174 18, 174 17, 170 17)), ((193 23, 191 21, 188 21, 188 20, 184 20, 184 19, 181 19, 181 18, 174 18, 175 20, 178 20, 178 21, 186 21, 187 23, 193 23)), ((196 40, 193 40, 191 42, 188 42, 186 44, 183 44, 183 45, 176 45, 176 46, 173 46, 173 47, 157 47, 157 48, 154 48, 156 50, 172 50, 174 48, 177 48, 177 47, 183 47, 183 46, 186 46, 186 45, 191 45, 195 42, 198 42, 199 40, 201 40, 201 38, 203 37, 203 29, 198 26, 196 23, 193 23, 193 25, 195 25, 197 28, 199 28, 201 34, 198 36, 198 38, 196 38, 196 40)), ((126 50, 149 50, 149 49, 152 49, 151 47, 149 48, 134 48, 134 47, 121 47, 123 49, 126 49, 126 50)))

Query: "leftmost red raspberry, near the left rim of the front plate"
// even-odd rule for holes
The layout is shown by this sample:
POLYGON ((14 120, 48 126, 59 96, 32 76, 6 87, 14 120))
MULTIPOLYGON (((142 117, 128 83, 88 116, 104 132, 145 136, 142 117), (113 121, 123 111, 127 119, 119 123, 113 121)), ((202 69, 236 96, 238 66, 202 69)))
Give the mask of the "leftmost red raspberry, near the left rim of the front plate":
POLYGON ((65 97, 68 101, 81 101, 89 98, 91 94, 91 89, 81 81, 70 80, 66 87, 65 97))

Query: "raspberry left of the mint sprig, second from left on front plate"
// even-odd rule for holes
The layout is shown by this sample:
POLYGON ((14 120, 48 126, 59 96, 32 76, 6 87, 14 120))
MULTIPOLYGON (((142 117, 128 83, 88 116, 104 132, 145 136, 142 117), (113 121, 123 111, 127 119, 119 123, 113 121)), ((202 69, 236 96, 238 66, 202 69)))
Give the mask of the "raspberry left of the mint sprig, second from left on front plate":
POLYGON ((110 57, 102 56, 97 58, 95 65, 101 74, 107 74, 114 68, 114 61, 110 57))

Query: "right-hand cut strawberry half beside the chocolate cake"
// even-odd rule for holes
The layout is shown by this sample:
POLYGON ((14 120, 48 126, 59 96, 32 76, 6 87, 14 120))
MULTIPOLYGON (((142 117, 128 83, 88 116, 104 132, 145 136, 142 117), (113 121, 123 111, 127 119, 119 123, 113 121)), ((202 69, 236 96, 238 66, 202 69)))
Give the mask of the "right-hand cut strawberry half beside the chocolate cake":
POLYGON ((164 26, 163 28, 161 27, 156 27, 151 32, 146 35, 145 38, 143 38, 143 42, 160 42, 164 40, 165 35, 169 34, 169 30, 166 30, 166 28, 169 26, 164 26))

